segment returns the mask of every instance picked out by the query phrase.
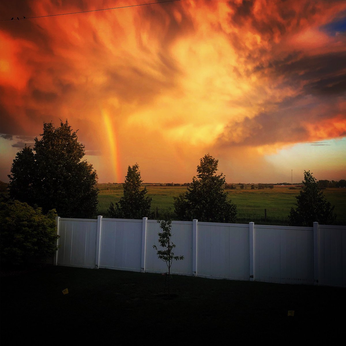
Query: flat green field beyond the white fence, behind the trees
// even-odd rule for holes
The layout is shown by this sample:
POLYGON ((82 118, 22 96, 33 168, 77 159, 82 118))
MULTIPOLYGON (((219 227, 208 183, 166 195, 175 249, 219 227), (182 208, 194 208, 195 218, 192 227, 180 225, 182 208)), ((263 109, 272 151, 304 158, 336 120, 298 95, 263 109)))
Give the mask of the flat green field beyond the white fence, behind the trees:
MULTIPOLYGON (((156 218, 160 218, 164 210, 171 208, 174 215, 173 197, 184 193, 186 186, 160 186, 143 184, 148 195, 152 197, 152 210, 156 212, 156 218), (157 209, 156 209, 157 208, 157 209)), ((99 209, 98 215, 107 215, 110 202, 119 201, 122 196, 122 184, 99 184, 99 209)), ((295 207, 295 198, 299 194, 299 188, 289 189, 290 186, 274 186, 274 189, 251 190, 246 185, 244 190, 236 186, 235 190, 225 190, 229 198, 237 205, 238 223, 255 222, 258 225, 288 225, 288 215, 291 207, 295 207), (267 217, 265 219, 264 210, 267 217)), ((327 201, 335 206, 337 215, 336 224, 346 225, 346 189, 329 188, 323 190, 327 201)), ((175 218, 176 219, 176 218, 175 218)))

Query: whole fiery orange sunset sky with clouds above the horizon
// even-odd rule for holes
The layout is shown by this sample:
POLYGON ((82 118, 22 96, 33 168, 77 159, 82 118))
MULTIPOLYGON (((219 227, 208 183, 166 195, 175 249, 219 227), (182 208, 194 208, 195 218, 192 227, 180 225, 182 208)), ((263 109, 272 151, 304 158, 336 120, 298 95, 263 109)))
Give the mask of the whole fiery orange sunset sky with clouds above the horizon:
POLYGON ((207 153, 228 183, 346 179, 346 1, 49 16, 149 2, 2 2, 0 180, 60 119, 100 183, 124 182, 135 163, 144 182, 191 182, 207 153))

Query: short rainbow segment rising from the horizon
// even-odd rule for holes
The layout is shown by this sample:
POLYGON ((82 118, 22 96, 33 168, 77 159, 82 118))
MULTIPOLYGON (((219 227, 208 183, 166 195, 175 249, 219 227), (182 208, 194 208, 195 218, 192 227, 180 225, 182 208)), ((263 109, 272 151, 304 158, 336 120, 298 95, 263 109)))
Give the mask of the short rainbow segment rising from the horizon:
POLYGON ((106 127, 106 133, 108 137, 108 144, 109 144, 109 152, 110 152, 110 162, 111 167, 114 174, 114 180, 113 182, 119 183, 120 182, 120 163, 119 163, 119 153, 118 153, 118 141, 117 141, 117 135, 116 131, 113 126, 113 122, 111 117, 108 114, 108 111, 105 109, 102 109, 102 118, 104 122, 104 126, 106 127))

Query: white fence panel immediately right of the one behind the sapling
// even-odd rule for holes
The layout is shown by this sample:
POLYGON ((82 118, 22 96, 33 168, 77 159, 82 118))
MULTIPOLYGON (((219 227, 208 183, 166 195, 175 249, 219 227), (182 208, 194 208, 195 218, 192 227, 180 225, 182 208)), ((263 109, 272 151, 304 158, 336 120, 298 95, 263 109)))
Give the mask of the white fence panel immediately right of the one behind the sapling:
POLYGON ((197 274, 249 280, 249 226, 198 222, 197 274))

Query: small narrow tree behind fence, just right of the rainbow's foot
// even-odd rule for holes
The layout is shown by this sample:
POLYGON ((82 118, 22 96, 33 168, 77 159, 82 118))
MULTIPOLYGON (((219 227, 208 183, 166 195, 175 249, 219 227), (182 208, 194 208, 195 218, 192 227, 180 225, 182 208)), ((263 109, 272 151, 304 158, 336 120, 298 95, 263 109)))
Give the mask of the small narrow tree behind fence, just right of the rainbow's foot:
POLYGON ((116 219, 142 219, 144 217, 152 218, 150 211, 152 198, 146 196, 147 188, 140 190, 140 184, 143 180, 140 178, 140 171, 136 163, 132 167, 128 166, 125 177, 124 195, 119 202, 111 202, 108 209, 109 216, 116 219))

